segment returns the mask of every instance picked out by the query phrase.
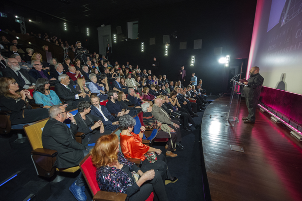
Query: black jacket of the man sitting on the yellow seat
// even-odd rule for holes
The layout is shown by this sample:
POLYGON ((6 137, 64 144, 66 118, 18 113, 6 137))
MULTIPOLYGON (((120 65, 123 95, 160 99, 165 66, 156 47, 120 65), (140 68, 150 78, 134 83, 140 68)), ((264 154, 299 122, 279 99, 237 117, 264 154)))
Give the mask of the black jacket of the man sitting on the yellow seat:
POLYGON ((70 168, 78 166, 84 158, 82 150, 86 148, 76 142, 74 135, 77 132, 77 125, 70 124, 70 129, 65 123, 50 118, 42 132, 43 148, 56 150, 58 168, 70 168))

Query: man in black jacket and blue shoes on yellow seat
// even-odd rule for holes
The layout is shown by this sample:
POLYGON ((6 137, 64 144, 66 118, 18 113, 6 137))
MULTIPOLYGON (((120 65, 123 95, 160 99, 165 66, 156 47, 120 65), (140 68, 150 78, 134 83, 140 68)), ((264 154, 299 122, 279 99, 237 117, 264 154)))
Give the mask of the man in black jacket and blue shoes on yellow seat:
MULTIPOLYGON (((48 109, 50 119, 46 122, 42 132, 42 145, 45 149, 56 150, 57 168, 70 168, 78 166, 93 147, 85 147, 76 142, 77 123, 72 114, 68 113, 62 105, 53 105, 48 109), (64 123, 71 121, 70 129, 64 123)), ((77 180, 69 187, 73 196, 78 200, 86 200, 85 182, 80 172, 77 180)))

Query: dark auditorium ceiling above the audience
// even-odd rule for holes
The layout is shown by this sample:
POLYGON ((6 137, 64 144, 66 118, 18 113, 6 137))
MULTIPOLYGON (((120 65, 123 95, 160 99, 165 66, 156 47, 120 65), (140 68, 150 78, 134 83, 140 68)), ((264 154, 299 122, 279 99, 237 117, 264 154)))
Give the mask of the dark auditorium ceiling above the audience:
POLYGON ((89 22, 100 26, 113 15, 129 14, 149 7, 184 0, 12 0, 19 5, 73 23, 89 22))

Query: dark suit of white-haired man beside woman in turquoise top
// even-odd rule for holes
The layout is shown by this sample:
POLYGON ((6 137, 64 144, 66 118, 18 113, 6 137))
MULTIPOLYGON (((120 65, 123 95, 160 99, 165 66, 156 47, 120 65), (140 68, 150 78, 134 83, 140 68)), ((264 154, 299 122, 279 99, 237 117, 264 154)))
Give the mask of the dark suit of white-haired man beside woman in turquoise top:
POLYGON ((67 100, 66 103, 68 103, 69 105, 77 106, 77 104, 81 101, 89 102, 89 96, 85 96, 85 98, 79 97, 79 99, 76 99, 75 95, 80 94, 80 92, 75 90, 75 88, 71 84, 69 84, 68 87, 70 88, 70 90, 67 89, 64 85, 58 83, 54 86, 54 91, 59 98, 67 100))

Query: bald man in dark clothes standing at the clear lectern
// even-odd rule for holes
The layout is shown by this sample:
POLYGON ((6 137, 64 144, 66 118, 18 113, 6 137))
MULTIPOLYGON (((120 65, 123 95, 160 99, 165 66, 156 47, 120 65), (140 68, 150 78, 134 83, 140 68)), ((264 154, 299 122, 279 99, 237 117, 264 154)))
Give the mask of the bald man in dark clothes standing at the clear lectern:
POLYGON ((259 67, 254 66, 250 70, 248 82, 243 82, 245 86, 242 90, 242 96, 246 98, 246 104, 249 110, 249 116, 243 117, 244 123, 254 124, 256 121, 256 108, 261 93, 264 78, 259 73, 259 67))

